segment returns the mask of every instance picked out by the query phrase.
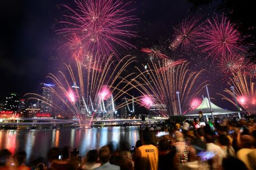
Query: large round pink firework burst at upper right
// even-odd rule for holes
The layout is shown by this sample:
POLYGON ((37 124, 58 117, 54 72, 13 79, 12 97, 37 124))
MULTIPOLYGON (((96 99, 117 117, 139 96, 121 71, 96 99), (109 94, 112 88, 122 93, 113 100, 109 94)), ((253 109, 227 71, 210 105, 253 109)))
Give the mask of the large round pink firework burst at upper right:
POLYGON ((203 31, 199 41, 202 43, 199 47, 208 56, 217 58, 225 58, 227 55, 237 55, 241 51, 245 51, 243 46, 240 46, 240 32, 235 29, 234 24, 226 17, 222 17, 221 22, 213 18, 209 19, 208 25, 203 27, 203 31))

